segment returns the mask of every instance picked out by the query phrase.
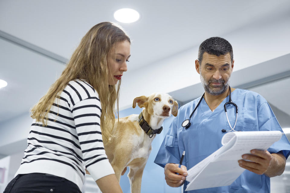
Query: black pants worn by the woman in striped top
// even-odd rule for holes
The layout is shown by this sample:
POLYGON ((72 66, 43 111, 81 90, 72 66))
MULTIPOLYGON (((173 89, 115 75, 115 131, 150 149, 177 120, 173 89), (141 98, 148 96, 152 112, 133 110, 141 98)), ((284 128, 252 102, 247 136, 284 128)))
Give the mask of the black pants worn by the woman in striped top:
POLYGON ((18 174, 3 193, 81 193, 79 187, 61 177, 43 173, 18 174))

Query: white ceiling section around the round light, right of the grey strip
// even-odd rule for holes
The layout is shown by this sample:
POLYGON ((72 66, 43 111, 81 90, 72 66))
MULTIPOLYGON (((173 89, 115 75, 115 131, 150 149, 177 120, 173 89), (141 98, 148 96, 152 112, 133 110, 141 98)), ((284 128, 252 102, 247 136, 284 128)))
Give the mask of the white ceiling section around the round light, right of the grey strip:
POLYGON ((133 8, 140 20, 121 24, 132 39, 132 70, 208 37, 279 17, 289 5, 288 0, 1 0, 0 30, 68 59, 93 25, 115 21, 119 8, 133 8))

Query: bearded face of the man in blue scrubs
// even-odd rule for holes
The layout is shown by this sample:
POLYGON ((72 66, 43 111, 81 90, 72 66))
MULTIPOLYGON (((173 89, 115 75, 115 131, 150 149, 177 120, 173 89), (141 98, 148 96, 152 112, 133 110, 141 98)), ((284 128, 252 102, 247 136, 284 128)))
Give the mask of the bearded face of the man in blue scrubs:
POLYGON ((205 52, 201 64, 195 61, 195 68, 200 74, 201 84, 205 91, 218 96, 224 93, 230 84, 230 75, 234 68, 230 53, 226 55, 211 55, 205 52))

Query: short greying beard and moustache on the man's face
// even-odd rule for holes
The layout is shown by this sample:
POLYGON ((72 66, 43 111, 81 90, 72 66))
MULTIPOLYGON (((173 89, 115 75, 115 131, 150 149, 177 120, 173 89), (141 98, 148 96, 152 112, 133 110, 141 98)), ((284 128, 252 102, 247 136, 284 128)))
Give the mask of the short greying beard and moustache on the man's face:
POLYGON ((211 79, 207 82, 207 81, 205 81, 205 78, 202 76, 201 71, 200 71, 200 80, 201 80, 201 84, 202 84, 203 88, 205 89, 205 91, 213 96, 218 96, 218 95, 221 95, 222 93, 226 92, 227 87, 230 84, 230 77, 226 81, 211 79), (211 82, 223 83, 223 84, 222 84, 222 87, 211 87, 210 86, 211 82))

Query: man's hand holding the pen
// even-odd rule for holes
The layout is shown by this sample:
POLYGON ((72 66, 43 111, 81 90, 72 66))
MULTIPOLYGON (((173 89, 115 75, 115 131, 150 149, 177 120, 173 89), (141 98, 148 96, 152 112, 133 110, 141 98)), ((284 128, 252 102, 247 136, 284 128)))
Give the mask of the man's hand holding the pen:
POLYGON ((187 176, 187 169, 185 166, 178 167, 179 164, 167 163, 164 167, 164 174, 166 183, 171 187, 179 187, 184 183, 185 176, 187 176), (176 173, 179 173, 176 174, 176 173))

